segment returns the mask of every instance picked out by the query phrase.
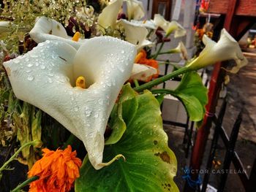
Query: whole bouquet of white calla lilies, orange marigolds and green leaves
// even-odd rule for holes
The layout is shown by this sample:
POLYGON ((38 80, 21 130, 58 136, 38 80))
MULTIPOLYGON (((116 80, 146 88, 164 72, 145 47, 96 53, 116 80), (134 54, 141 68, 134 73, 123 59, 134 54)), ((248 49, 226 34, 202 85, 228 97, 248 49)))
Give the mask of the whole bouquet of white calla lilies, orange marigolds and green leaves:
POLYGON ((178 191, 159 104, 176 96, 200 122, 207 88, 196 71, 229 59, 237 63, 231 72, 244 66, 233 37, 225 29, 219 42, 203 36, 206 47, 188 60, 182 43, 162 50, 184 28, 161 15, 140 20, 137 0, 5 0, 2 7, 0 139, 20 148, 0 175, 12 172, 15 158, 29 167, 12 191, 28 184, 29 191, 178 191), (173 53, 186 64, 158 77, 157 57, 173 53), (175 90, 151 89, 174 77, 181 77, 175 90))

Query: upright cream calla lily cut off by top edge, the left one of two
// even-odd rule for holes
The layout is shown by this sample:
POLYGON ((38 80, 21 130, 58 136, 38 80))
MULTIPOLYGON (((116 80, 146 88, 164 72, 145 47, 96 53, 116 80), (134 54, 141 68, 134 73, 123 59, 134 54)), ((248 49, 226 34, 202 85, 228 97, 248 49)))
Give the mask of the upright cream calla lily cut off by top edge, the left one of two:
POLYGON ((99 28, 103 32, 105 32, 105 28, 115 28, 118 12, 120 11, 122 4, 123 0, 110 1, 110 4, 108 4, 108 6, 99 14, 99 28))

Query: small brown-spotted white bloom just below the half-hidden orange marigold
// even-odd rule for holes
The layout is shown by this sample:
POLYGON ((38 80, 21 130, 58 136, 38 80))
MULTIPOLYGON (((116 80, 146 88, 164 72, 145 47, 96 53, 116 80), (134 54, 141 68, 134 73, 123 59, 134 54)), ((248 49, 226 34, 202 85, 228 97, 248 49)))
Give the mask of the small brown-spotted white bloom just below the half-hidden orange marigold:
POLYGON ((147 81, 148 77, 157 74, 157 69, 145 64, 134 64, 132 67, 132 74, 129 80, 147 81))

